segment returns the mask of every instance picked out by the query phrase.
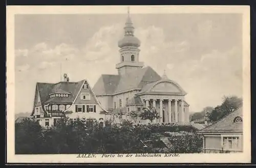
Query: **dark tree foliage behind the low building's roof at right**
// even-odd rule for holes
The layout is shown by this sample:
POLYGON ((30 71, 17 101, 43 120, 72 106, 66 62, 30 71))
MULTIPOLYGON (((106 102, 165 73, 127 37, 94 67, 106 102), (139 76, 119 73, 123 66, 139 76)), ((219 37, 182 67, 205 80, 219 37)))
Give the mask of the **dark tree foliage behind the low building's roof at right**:
POLYGON ((242 98, 238 98, 237 96, 224 96, 222 104, 216 106, 209 114, 209 120, 217 121, 220 118, 226 116, 227 114, 233 112, 234 110, 237 110, 242 105, 242 98))

